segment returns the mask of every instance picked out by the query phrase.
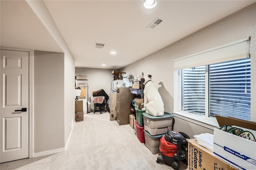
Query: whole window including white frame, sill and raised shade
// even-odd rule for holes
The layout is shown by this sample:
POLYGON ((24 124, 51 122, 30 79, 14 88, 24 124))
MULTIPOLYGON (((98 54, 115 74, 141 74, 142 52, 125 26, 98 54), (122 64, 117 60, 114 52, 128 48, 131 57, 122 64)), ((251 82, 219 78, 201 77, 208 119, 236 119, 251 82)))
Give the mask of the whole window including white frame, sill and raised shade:
POLYGON ((250 38, 174 59, 174 113, 212 126, 215 115, 250 121, 250 63, 250 38))

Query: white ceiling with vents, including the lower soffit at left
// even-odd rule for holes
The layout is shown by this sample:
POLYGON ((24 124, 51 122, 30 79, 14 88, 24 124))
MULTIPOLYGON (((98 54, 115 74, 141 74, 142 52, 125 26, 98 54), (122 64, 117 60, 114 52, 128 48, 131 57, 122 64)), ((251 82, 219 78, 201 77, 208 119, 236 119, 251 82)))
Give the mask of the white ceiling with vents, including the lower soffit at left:
MULTIPOLYGON (((142 0, 44 2, 76 67, 119 69, 256 1, 158 0, 151 10, 143 7, 142 0), (156 18, 164 21, 148 29, 156 18), (105 47, 95 48, 96 42, 105 47), (110 54, 112 50, 117 53, 110 54)), ((2 47, 64 51, 26 1, 1 0, 0 6, 2 47)))

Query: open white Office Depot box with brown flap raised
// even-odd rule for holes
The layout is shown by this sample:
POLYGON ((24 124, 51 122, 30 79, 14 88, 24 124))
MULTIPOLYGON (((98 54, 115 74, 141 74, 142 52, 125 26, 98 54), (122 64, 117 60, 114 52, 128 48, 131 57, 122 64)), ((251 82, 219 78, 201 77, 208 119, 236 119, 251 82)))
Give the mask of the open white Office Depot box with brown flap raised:
MULTIPOLYGON (((231 125, 232 127, 250 131, 256 136, 255 130, 246 128, 251 127, 255 129, 256 126, 254 122, 217 115, 216 118, 220 127, 225 123, 225 125, 231 125), (223 120, 226 120, 226 122, 223 120)), ((214 128, 213 152, 216 157, 237 169, 244 170, 256 167, 256 142, 220 130, 219 127, 214 128)))

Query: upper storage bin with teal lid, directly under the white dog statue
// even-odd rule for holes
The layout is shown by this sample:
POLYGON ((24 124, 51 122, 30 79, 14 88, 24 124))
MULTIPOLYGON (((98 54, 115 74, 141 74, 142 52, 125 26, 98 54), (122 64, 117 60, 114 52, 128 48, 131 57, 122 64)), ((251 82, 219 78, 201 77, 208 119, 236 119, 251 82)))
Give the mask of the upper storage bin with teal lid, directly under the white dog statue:
POLYGON ((144 129, 152 136, 164 134, 172 130, 172 114, 164 113, 164 116, 152 116, 143 113, 144 129))

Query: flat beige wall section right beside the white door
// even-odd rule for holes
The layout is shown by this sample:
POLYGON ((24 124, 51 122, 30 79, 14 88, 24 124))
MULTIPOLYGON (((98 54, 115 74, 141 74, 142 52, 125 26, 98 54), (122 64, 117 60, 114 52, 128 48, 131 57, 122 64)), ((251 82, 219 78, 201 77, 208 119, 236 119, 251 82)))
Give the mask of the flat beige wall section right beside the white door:
POLYGON ((34 154, 65 147, 64 53, 34 51, 34 154))

